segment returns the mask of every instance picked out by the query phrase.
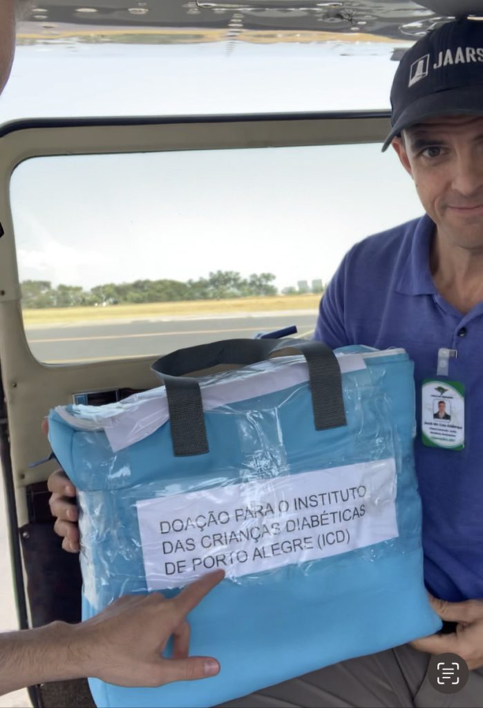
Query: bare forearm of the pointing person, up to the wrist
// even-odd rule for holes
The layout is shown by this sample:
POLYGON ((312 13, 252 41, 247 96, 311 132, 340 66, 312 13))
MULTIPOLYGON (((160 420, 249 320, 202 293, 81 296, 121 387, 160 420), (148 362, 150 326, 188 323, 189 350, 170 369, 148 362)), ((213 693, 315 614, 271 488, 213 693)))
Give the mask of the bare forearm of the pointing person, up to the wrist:
POLYGON ((53 622, 39 629, 0 634, 0 695, 45 681, 85 676, 76 625, 53 622))

